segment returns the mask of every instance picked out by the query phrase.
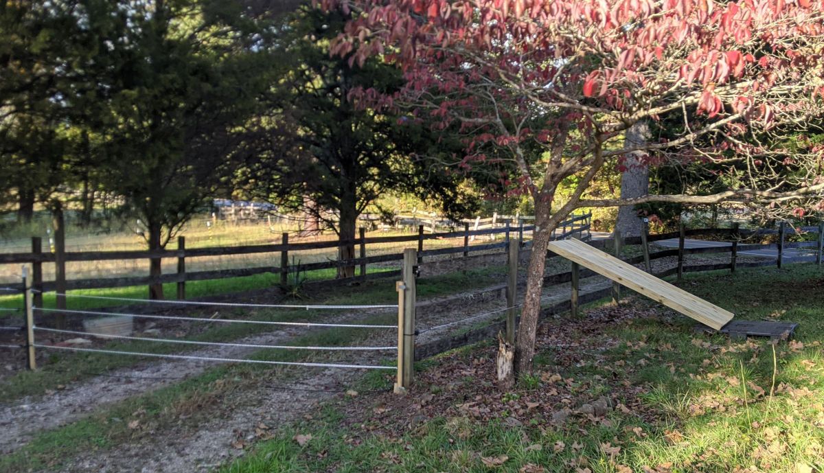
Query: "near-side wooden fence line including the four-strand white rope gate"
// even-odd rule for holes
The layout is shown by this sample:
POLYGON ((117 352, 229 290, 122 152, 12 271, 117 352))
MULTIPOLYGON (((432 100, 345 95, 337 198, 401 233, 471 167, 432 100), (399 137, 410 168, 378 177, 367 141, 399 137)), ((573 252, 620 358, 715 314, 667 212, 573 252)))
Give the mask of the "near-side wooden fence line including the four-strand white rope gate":
MULTIPOLYGON (((781 267, 784 263, 790 262, 812 262, 817 265, 822 264, 822 250, 824 250, 824 224, 818 227, 802 227, 802 228, 787 228, 784 225, 778 230, 756 230, 743 231, 736 229, 694 229, 686 230, 681 227, 679 232, 665 233, 658 235, 649 235, 646 231, 640 237, 622 238, 619 235, 611 239, 592 241, 590 243, 604 251, 612 252, 614 255, 633 265, 644 264, 648 272, 652 272, 650 261, 658 260, 666 257, 677 257, 677 264, 669 269, 664 269, 655 273, 658 277, 667 277, 672 274, 677 274, 681 279, 681 275, 686 272, 693 271, 709 271, 719 269, 729 269, 734 272, 737 268, 742 267, 756 267, 766 265, 776 265, 781 267), (787 242, 785 237, 789 233, 807 232, 815 235, 815 239, 811 241, 787 242), (742 237, 753 237, 761 235, 777 236, 777 241, 771 244, 756 244, 756 245, 742 245, 739 244, 739 239, 742 237), (728 244, 718 241, 708 241, 707 246, 695 245, 694 247, 687 247, 686 237, 706 237, 706 236, 727 236, 734 238, 728 244), (677 248, 667 249, 662 251, 650 252, 649 243, 653 241, 663 241, 677 239, 677 248), (641 249, 640 255, 622 257, 622 249, 626 245, 639 245, 641 249), (789 249, 810 248, 810 255, 785 255, 789 249), (755 255, 761 258, 761 261, 751 261, 740 263, 737 261, 739 255, 747 255, 754 251, 775 251, 775 258, 770 256, 764 257, 761 253, 755 255), (712 263, 704 265, 686 265, 685 255, 702 255, 712 253, 728 253, 729 261, 723 263, 712 263), (814 254, 812 254, 814 253, 814 254)), ((460 320, 448 321, 438 325, 430 325, 426 327, 419 327, 416 323, 416 279, 418 277, 419 252, 415 249, 407 249, 401 255, 402 269, 400 272, 400 280, 396 283, 396 292, 398 297, 397 304, 391 305, 311 305, 311 304, 248 304, 248 303, 233 303, 233 302, 192 302, 192 301, 152 301, 145 299, 129 299, 123 297, 104 297, 91 296, 82 294, 66 294, 66 297, 91 297, 99 299, 110 299, 112 301, 120 302, 143 302, 145 304, 175 304, 184 307, 238 307, 243 309, 250 308, 269 308, 273 310, 280 309, 313 309, 319 311, 363 311, 363 310, 392 310, 397 311, 397 323, 395 325, 378 325, 365 323, 326 323, 323 321, 264 321, 264 320, 249 320, 249 319, 214 319, 210 317, 198 316, 168 316, 157 314, 142 314, 142 313, 122 313, 115 311, 85 311, 85 310, 61 310, 61 309, 47 309, 35 305, 35 294, 42 293, 40 290, 32 287, 32 279, 29 278, 27 270, 24 270, 23 281, 20 288, 0 288, 5 293, 22 293, 23 295, 23 312, 24 324, 22 327, 2 326, 0 330, 8 331, 22 331, 25 336, 25 343, 23 344, 0 344, 0 348, 6 349, 23 349, 26 350, 27 367, 36 369, 36 351, 37 350, 63 350, 81 353, 96 353, 96 354, 110 354, 116 356, 129 357, 147 357, 147 358, 171 358, 171 359, 193 359, 206 362, 216 363, 255 363, 268 365, 286 365, 297 366, 304 368, 346 368, 346 369, 384 369, 393 370, 396 372, 396 391, 404 391, 410 386, 414 377, 414 361, 422 358, 427 358, 433 354, 438 354, 448 349, 454 349, 463 344, 474 343, 480 340, 489 340, 495 334, 503 332, 510 342, 515 338, 517 331, 517 288, 518 288, 518 269, 521 266, 523 253, 531 251, 529 242, 516 240, 514 238, 503 242, 503 247, 506 248, 508 277, 504 286, 506 294, 506 306, 492 311, 485 311, 484 313, 474 314, 460 320), (297 326, 305 328, 331 328, 331 329, 368 329, 368 330, 396 330, 397 344, 393 346, 302 346, 295 344, 252 344, 252 343, 224 343, 224 342, 205 342, 199 340, 182 340, 182 339, 163 339, 163 338, 147 338, 134 337, 131 335, 99 335, 88 330, 65 330, 61 328, 54 328, 51 326, 37 325, 35 323, 35 313, 37 312, 69 312, 84 317, 99 317, 99 316, 122 316, 129 319, 146 318, 151 320, 169 320, 169 321, 185 321, 189 323, 220 323, 220 324, 255 324, 268 328, 274 326, 297 326), (499 314, 504 315, 503 321, 496 321, 499 314), (480 328, 470 328, 458 335, 448 336, 445 338, 431 340, 426 344, 416 344, 416 335, 433 331, 446 329, 452 325, 467 325, 473 321, 490 321, 488 325, 480 328), (101 348, 85 348, 76 346, 63 346, 58 344, 44 344, 37 338, 38 334, 54 334, 62 336, 89 336, 98 337, 102 340, 134 340, 147 342, 152 344, 184 344, 197 345, 206 347, 232 347, 239 349, 301 349, 314 351, 353 351, 353 352, 393 352, 396 354, 396 366, 366 364, 366 363, 313 363, 307 361, 286 361, 286 360, 269 360, 269 359, 248 359, 248 358, 227 358, 218 356, 202 356, 197 354, 168 354, 168 353, 152 353, 147 351, 129 351, 124 349, 113 349, 107 346, 101 348)), ((547 258, 555 258, 558 255, 551 253, 547 254, 547 258)), ((542 315, 556 314, 564 311, 572 311, 574 314, 578 312, 580 304, 594 301, 602 297, 612 295, 615 302, 620 297, 620 284, 613 283, 611 288, 602 288, 588 293, 581 293, 579 285, 580 279, 588 278, 595 275, 594 272, 588 269, 579 269, 577 265, 573 265, 568 272, 561 274, 550 274, 545 276, 545 286, 553 286, 563 283, 570 284, 569 300, 555 303, 549 307, 542 308, 542 315)), ((584 288, 585 289, 585 288, 584 288)))

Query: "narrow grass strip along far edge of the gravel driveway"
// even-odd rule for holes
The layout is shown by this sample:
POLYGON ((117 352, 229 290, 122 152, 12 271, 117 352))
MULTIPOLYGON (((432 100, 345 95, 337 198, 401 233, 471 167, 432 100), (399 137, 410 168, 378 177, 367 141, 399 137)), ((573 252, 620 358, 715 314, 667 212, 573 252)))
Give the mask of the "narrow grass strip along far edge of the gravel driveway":
MULTIPOLYGON (((454 288, 457 287, 466 288, 467 290, 480 288, 489 283, 498 282, 500 279, 500 271, 500 268, 490 267, 487 269, 467 271, 466 274, 444 274, 433 278, 419 279, 417 285, 418 297, 424 299, 446 295, 452 293, 454 288)), ((326 297, 306 302, 329 305, 360 305, 391 304, 397 301, 394 282, 389 281, 372 281, 364 283, 358 288, 332 288, 327 291, 326 294, 326 297)), ((301 302, 298 301, 297 303, 301 302)), ((260 321, 317 321, 321 320, 323 316, 328 315, 325 311, 307 311, 302 309, 249 310, 244 308, 218 308, 208 311, 205 316, 212 316, 216 310, 220 312, 221 318, 260 321)), ((197 313, 193 310, 190 312, 190 315, 203 316, 204 314, 197 313)), ((392 317, 394 316, 390 316, 391 320, 384 322, 393 323, 395 320, 392 317)), ((205 330, 187 336, 186 340, 209 342, 231 341, 244 336, 255 335, 260 333, 260 331, 260 325, 209 324, 205 330)), ((339 330, 338 333, 340 335, 347 335, 349 332, 339 330)), ((196 345, 160 344, 151 341, 125 341, 106 344, 106 348, 144 353, 175 354, 185 353, 186 351, 202 347, 196 345)), ((42 369, 35 372, 17 372, 15 375, 5 378, 2 383, 0 383, 0 403, 8 403, 22 396, 38 396, 45 391, 56 389, 59 385, 89 377, 96 372, 107 372, 145 361, 145 358, 109 354, 69 354, 56 350, 51 350, 48 353, 48 363, 42 366, 42 369)))

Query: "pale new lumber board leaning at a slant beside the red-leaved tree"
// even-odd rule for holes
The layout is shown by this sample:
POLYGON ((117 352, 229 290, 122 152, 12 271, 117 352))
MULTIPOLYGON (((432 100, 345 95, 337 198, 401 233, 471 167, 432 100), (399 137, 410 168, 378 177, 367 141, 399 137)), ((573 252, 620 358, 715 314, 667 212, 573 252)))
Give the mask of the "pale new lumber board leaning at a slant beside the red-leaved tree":
POLYGON ((723 325, 733 319, 732 312, 725 311, 700 297, 695 297, 614 256, 598 251, 583 241, 550 241, 547 249, 715 330, 720 330, 723 325))

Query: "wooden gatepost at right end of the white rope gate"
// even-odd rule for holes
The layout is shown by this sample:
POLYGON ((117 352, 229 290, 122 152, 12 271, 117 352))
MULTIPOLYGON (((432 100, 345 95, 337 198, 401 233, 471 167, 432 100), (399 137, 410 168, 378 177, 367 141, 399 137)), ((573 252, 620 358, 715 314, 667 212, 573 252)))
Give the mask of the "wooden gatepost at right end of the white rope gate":
POLYGON ((398 379, 396 392, 405 392, 414 377, 415 263, 412 248, 404 250, 403 281, 398 288, 398 379))

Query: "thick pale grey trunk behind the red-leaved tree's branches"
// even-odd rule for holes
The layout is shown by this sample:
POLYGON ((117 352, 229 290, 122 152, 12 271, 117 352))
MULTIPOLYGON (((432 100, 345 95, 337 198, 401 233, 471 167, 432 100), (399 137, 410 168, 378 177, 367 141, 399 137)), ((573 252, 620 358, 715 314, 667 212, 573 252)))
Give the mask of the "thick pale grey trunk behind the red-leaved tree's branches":
MULTIPOLYGON (((639 121, 626 130, 624 148, 638 148, 649 139, 649 126, 639 121)), ((649 193, 649 166, 645 162, 645 152, 628 152, 624 155, 626 171, 620 176, 620 197, 631 199, 642 197, 649 193)), ((639 237, 641 235, 641 219, 634 206, 625 205, 618 210, 616 228, 624 237, 639 237)))

